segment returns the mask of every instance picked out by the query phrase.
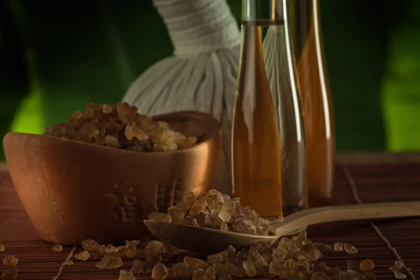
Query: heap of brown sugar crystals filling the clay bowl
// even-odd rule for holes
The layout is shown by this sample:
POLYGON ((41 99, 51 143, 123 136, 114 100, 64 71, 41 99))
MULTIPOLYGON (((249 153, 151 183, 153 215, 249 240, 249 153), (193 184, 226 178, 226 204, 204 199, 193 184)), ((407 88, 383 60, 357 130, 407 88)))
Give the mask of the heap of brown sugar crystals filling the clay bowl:
POLYGON ((71 113, 66 123, 49 127, 44 134, 139 152, 175 151, 197 142, 196 137, 174 132, 167 123, 155 122, 124 102, 87 104, 84 112, 71 113))

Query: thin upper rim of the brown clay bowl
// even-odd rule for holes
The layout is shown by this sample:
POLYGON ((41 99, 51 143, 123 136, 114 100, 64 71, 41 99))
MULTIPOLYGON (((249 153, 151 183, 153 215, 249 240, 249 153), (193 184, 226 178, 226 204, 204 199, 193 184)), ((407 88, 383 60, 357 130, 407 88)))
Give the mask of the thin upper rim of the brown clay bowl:
POLYGON ((20 134, 20 135, 29 135, 31 137, 42 137, 42 138, 49 138, 49 139, 54 139, 55 141, 68 141, 71 142, 73 144, 78 144, 78 145, 89 145, 89 146, 94 146, 96 148, 102 148, 102 149, 106 149, 106 150, 111 150, 117 153, 136 153, 136 154, 141 154, 141 155, 162 155, 162 154, 174 154, 174 153, 186 153, 188 151, 192 151, 195 148, 200 148, 200 146, 205 145, 208 141, 211 141, 217 137, 221 136, 221 132, 222 132, 222 127, 221 127, 221 123, 216 120, 216 118, 214 118, 213 116, 211 116, 209 113, 203 113, 200 111, 174 111, 171 113, 165 113, 165 114, 160 114, 160 115, 156 115, 156 116, 152 116, 151 118, 153 119, 168 119, 171 116, 176 116, 176 118, 178 119, 182 119, 182 118, 194 118, 194 117, 198 117, 198 120, 202 120, 204 119, 205 123, 210 123, 211 125, 209 127, 211 127, 211 130, 208 131, 208 133, 206 134, 205 139, 203 139, 202 141, 200 141, 200 143, 195 144, 194 146, 190 147, 190 148, 183 148, 180 150, 176 150, 176 151, 155 151, 155 152, 137 152, 137 151, 130 151, 130 150, 123 150, 120 148, 112 148, 112 147, 107 147, 107 146, 99 146, 99 145, 95 145, 92 143, 87 143, 87 142, 83 142, 83 141, 77 141, 77 140, 73 140, 73 139, 65 139, 65 138, 59 138, 59 137, 52 137, 52 136, 48 136, 48 135, 43 135, 43 134, 32 134, 32 133, 22 133, 22 132, 8 132, 4 137, 3 137, 3 146, 4 146, 4 142, 6 137, 8 136, 8 134, 20 134))

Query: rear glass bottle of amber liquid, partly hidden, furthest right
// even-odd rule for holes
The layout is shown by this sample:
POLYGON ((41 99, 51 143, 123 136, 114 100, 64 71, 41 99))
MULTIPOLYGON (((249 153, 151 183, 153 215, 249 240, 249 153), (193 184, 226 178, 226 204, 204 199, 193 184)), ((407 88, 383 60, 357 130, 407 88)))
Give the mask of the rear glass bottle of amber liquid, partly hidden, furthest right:
POLYGON ((334 188, 335 130, 318 0, 295 0, 292 36, 302 93, 309 207, 328 204, 334 188))

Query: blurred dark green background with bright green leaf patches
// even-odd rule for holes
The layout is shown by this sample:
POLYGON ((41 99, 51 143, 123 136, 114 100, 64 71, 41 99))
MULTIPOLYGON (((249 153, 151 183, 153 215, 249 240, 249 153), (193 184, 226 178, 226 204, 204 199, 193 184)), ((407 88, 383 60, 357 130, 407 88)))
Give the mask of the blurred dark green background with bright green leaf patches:
MULTIPOLYGON (((420 1, 320 2, 337 151, 419 150, 420 1)), ((0 137, 116 103, 172 55, 151 0, 4 0, 0 20, 0 137)))

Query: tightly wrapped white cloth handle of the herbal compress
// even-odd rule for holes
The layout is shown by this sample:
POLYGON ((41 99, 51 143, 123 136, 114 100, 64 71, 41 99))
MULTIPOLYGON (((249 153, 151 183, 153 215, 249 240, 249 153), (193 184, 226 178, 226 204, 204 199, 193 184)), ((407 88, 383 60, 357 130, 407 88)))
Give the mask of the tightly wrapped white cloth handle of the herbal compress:
POLYGON ((225 0, 153 0, 177 57, 239 45, 240 33, 225 0))

